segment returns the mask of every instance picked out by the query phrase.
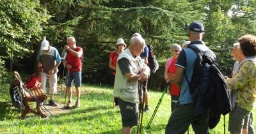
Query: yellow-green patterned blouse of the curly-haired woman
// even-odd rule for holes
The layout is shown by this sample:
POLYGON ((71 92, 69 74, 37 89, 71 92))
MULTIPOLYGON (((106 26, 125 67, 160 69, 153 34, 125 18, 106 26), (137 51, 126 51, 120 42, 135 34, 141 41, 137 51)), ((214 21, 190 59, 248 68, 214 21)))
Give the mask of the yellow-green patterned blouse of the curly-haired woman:
POLYGON ((256 63, 244 61, 234 78, 227 78, 230 90, 237 90, 236 105, 252 111, 256 99, 256 63))

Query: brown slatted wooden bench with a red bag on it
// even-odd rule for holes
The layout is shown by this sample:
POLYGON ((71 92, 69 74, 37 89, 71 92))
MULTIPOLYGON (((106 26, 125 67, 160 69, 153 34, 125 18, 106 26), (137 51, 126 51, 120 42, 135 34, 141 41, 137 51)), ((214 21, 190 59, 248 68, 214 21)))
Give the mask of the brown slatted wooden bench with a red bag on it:
POLYGON ((15 80, 13 84, 17 84, 16 86, 19 86, 19 83, 21 82, 22 88, 20 88, 20 91, 22 93, 22 101, 24 104, 24 111, 20 115, 20 119, 24 119, 26 114, 33 113, 36 115, 40 115, 41 117, 45 118, 47 115, 42 113, 41 111, 41 105, 43 101, 47 100, 47 95, 44 94, 42 89, 40 89, 39 86, 33 87, 31 89, 27 89, 24 84, 22 83, 22 80, 20 78, 20 75, 17 71, 14 71, 15 80), (34 110, 28 102, 35 102, 36 103, 36 110, 34 110))

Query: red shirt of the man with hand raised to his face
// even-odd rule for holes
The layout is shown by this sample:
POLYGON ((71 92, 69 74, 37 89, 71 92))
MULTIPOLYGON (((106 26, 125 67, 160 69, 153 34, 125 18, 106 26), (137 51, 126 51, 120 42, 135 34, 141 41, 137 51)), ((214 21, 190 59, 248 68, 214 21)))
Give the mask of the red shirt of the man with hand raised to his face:
MULTIPOLYGON (((74 51, 83 52, 83 49, 81 47, 76 47, 74 48, 74 51)), ((72 66, 72 68, 68 71, 82 71, 81 57, 74 56, 73 54, 71 54, 71 52, 67 53, 67 57, 66 57, 67 64, 70 64, 72 66)))

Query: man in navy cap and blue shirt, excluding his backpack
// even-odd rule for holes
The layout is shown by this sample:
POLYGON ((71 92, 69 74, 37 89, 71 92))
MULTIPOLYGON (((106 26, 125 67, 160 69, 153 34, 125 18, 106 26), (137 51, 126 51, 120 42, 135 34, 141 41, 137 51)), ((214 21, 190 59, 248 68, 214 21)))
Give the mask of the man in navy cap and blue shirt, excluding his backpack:
MULTIPOLYGON (((202 38, 204 37, 204 26, 200 22, 192 22, 189 25, 189 46, 197 47, 200 51, 212 59, 216 59, 216 56, 212 50, 206 47, 202 38)), ((192 95, 189 92, 188 82, 184 73, 190 82, 193 75, 193 67, 196 61, 197 55, 191 48, 184 48, 177 59, 176 75, 174 82, 180 87, 180 98, 177 103, 177 108, 172 112, 172 115, 166 125, 165 133, 186 133, 189 125, 193 126, 195 133, 209 133, 209 110, 203 114, 196 115, 195 108, 196 105, 193 103, 192 95)))

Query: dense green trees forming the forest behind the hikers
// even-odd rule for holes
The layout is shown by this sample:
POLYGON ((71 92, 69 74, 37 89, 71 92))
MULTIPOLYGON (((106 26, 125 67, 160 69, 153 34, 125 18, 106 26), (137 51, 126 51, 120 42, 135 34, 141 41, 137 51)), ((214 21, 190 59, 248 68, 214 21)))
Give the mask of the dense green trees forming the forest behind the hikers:
POLYGON ((141 33, 160 64, 149 87, 161 89, 170 46, 188 40, 188 25, 195 20, 204 24, 203 40, 229 76, 233 43, 256 33, 255 8, 254 0, 1 0, 0 82, 10 82, 13 70, 37 70, 43 36, 60 54, 67 37, 74 36, 84 50, 83 82, 110 85, 108 59, 116 40, 129 44, 133 33, 141 33))

